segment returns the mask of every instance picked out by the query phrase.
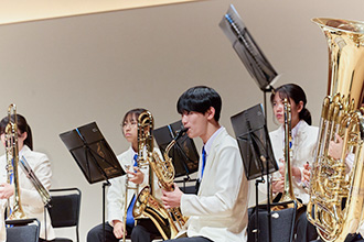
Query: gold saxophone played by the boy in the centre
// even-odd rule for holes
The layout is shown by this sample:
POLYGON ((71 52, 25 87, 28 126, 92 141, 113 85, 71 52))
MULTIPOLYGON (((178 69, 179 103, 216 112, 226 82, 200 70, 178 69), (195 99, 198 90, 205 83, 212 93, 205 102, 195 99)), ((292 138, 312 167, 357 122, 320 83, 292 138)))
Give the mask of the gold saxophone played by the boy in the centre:
MULTIPOLYGON (((164 162, 153 151, 152 142, 148 147, 148 163, 150 168, 158 177, 159 186, 165 190, 173 190, 174 167, 169 151, 175 144, 176 139, 181 138, 183 132, 167 146, 164 152, 164 162)), ((152 136, 151 136, 152 138, 152 136)), ((151 183, 152 184, 152 183, 151 183)), ((151 195, 150 188, 144 187, 138 195, 136 205, 132 210, 135 218, 144 215, 150 218, 156 224, 164 240, 173 239, 182 229, 186 219, 182 216, 180 208, 164 209, 164 207, 151 195)))

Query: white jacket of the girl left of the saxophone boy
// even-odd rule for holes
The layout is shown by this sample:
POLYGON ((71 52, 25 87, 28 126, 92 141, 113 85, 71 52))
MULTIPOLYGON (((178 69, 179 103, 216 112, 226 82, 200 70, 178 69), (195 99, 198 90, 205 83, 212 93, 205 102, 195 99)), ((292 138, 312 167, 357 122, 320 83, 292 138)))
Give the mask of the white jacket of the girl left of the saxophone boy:
MULTIPOLYGON (((157 152, 160 155, 160 151, 158 148, 154 148, 154 152, 157 152)), ((130 170, 133 166, 133 155, 136 153, 131 147, 129 147, 128 151, 124 152, 122 154, 118 155, 118 161, 121 165, 121 167, 127 170, 127 166, 129 166, 130 170)), ((144 174, 144 179, 142 184, 139 185, 139 190, 136 193, 135 189, 128 189, 128 197, 127 197, 127 209, 131 202, 132 197, 136 195, 138 196, 139 191, 149 185, 149 167, 144 167, 140 169, 144 174)), ((113 220, 120 220, 124 221, 125 217, 125 191, 126 191, 126 176, 119 176, 116 178, 110 179, 111 186, 108 188, 107 191, 107 209, 108 209, 108 222, 110 226, 114 226, 113 220)), ((129 182, 129 186, 136 187, 136 184, 129 182)), ((154 175, 154 195, 158 200, 161 198, 161 189, 158 187, 158 178, 154 175)))

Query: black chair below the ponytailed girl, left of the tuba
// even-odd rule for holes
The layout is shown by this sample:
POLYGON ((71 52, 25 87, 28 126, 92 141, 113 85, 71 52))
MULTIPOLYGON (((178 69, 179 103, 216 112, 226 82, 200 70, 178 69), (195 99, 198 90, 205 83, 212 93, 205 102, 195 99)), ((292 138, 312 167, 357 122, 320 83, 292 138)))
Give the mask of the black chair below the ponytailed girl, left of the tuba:
MULTIPOLYGON (((292 242, 295 221, 297 216, 296 201, 277 202, 271 207, 283 208, 281 210, 271 211, 271 241, 292 242)), ((259 242, 269 242, 268 237, 268 211, 266 205, 258 206, 258 221, 259 221, 259 242)), ((256 235, 256 208, 248 209, 248 242, 255 242, 256 235)))

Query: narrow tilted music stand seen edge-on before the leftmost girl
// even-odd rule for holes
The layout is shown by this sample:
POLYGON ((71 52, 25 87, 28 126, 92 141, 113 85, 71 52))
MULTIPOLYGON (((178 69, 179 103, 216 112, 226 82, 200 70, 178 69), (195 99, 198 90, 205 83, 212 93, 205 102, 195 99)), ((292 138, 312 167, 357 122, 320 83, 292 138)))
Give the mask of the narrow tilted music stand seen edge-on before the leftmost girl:
POLYGON ((36 177, 36 175, 28 164, 24 156, 22 156, 21 160, 19 161, 19 165, 22 168, 23 173, 26 175, 26 177, 30 179, 30 182, 33 184, 39 195, 41 196, 44 206, 51 207, 50 202, 52 200, 52 197, 49 190, 43 186, 41 180, 36 177))

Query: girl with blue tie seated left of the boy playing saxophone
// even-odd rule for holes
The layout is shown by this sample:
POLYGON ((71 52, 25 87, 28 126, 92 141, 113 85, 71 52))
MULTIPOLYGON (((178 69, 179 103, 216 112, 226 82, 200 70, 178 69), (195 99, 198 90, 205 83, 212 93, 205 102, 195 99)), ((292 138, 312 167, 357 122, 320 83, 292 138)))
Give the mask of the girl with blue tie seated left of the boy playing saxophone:
MULTIPOLYGON (((131 241, 152 241, 159 231, 150 219, 143 218, 137 220, 132 217, 132 208, 135 198, 138 193, 148 185, 148 168, 136 167, 138 156, 138 117, 146 111, 144 109, 132 109, 128 111, 121 122, 122 134, 131 144, 129 150, 118 155, 121 167, 127 170, 128 175, 110 179, 111 186, 107 193, 108 222, 105 224, 106 242, 118 242, 125 235, 130 235, 131 241), (129 167, 129 168, 127 168, 129 167), (129 177, 129 178, 128 178, 129 177), (139 185, 139 191, 128 189, 127 206, 125 206, 126 183, 129 180, 129 186, 139 185), (127 218, 125 219, 125 208, 127 208, 127 218), (126 224, 124 224, 126 223, 126 224), (126 226, 126 231, 124 227, 126 226)), ((156 178, 156 177, 154 177, 156 178)), ((158 185, 154 185, 158 189, 158 185)), ((158 190, 156 191, 158 193, 158 190)), ((161 196, 161 190, 159 189, 161 196)), ((87 234, 87 242, 103 242, 103 224, 96 226, 87 234)))

